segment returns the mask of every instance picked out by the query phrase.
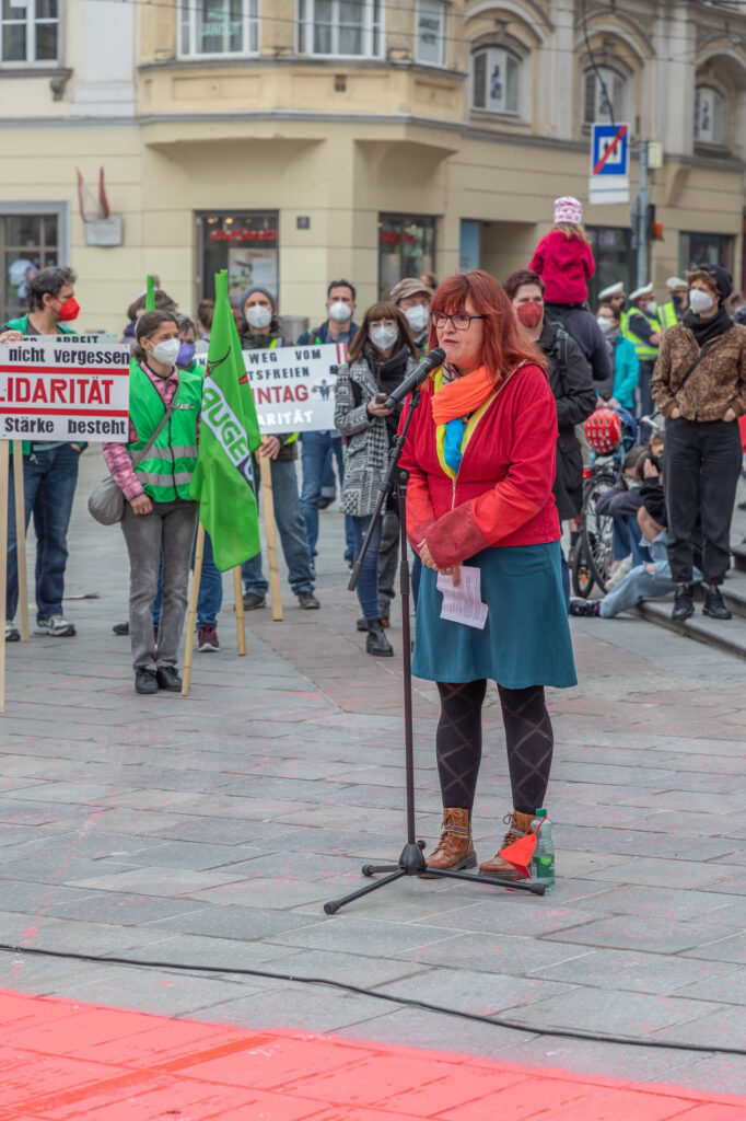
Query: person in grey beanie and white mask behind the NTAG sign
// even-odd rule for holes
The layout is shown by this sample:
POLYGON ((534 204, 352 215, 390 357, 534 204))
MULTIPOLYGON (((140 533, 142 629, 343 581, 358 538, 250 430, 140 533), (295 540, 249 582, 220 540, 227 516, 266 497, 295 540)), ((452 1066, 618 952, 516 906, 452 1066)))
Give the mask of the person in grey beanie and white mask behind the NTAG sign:
MULTIPOLYGON (((268 288, 254 285, 240 297, 239 306, 246 321, 246 331, 241 337, 244 350, 274 350, 285 345, 282 330, 277 317, 274 296, 268 288)), ((311 566, 306 522, 300 513, 298 493, 298 433, 262 436, 259 455, 254 456, 254 467, 259 476, 260 460, 269 460, 274 498, 274 521, 280 534, 282 553, 288 566, 288 583, 299 605, 308 611, 320 608, 314 595, 316 586, 311 566)), ((267 470, 267 469, 264 469, 267 470)), ((259 494, 257 495, 259 499, 259 494)), ((243 605, 246 611, 267 604, 269 583, 262 572, 262 557, 258 553, 241 565, 243 577, 243 605)))

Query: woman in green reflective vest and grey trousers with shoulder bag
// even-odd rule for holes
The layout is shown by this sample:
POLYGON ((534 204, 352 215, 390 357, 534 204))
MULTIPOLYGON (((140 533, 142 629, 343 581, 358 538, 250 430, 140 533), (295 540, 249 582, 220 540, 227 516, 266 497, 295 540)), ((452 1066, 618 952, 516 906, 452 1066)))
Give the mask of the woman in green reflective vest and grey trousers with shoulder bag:
POLYGON ((130 642, 137 693, 178 693, 178 646, 187 609, 192 546, 199 503, 189 498, 197 463, 202 371, 179 370, 177 317, 146 312, 138 319, 130 363, 127 444, 104 444, 112 479, 122 491, 122 532, 130 557, 130 642), (144 460, 141 451, 171 410, 144 460), (164 558, 162 608, 157 637, 153 604, 164 558))

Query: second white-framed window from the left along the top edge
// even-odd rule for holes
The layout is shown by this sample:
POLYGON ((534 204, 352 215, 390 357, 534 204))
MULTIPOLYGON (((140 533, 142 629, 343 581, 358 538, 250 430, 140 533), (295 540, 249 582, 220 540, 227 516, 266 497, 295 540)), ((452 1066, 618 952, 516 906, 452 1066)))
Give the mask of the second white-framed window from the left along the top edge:
POLYGON ((259 0, 179 0, 179 28, 183 58, 257 54, 259 0))

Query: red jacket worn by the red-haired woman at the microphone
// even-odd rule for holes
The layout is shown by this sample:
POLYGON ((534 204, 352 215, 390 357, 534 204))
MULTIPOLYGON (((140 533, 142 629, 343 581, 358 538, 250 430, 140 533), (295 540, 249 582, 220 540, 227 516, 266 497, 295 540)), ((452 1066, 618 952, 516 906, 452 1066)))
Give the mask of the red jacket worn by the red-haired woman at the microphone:
MULTIPOLYGON (((557 411, 543 370, 526 364, 503 383, 466 446, 456 480, 438 458, 432 392, 428 379, 401 457, 410 472, 407 521, 413 548, 425 538, 444 567, 492 545, 558 540, 557 411)), ((402 424, 408 409, 409 404, 402 424)))

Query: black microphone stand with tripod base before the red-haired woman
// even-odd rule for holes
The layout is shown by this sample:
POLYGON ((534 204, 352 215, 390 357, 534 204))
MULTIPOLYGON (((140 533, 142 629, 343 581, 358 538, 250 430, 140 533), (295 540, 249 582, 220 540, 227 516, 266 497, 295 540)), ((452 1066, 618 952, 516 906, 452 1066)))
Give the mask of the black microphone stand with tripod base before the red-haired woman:
POLYGON ((389 471, 380 488, 381 493, 375 512, 371 519, 371 526, 365 536, 365 540, 363 541, 363 547, 353 569, 349 583, 347 584, 348 590, 354 592, 357 586, 357 581, 360 580, 363 562, 365 560, 365 554, 367 553, 373 530, 375 529, 376 521, 381 517, 381 511, 383 510, 383 503, 385 502, 386 497, 393 491, 395 497, 399 499, 401 548, 400 593, 401 641, 403 654, 402 683, 404 691, 404 760, 407 768, 407 844, 402 849, 401 855, 399 856, 399 863, 397 864, 363 864, 363 876, 375 876, 379 872, 386 872, 389 874, 384 876, 382 880, 376 880, 375 883, 369 883, 358 891, 353 891, 351 895, 344 896, 342 899, 332 899, 328 904, 324 904, 324 910, 327 915, 335 915, 336 911, 338 911, 341 907, 346 906, 346 904, 351 904, 353 900, 360 899, 362 896, 366 896, 371 891, 377 891, 379 888, 383 888, 386 883, 393 883, 394 880, 401 879, 402 876, 421 877, 427 873, 428 879, 437 877, 440 879, 468 880, 470 883, 484 883, 485 886, 496 888, 513 888, 519 891, 530 891, 534 896, 543 896, 547 890, 543 883, 533 883, 531 881, 520 880, 502 880, 495 876, 475 876, 473 872, 455 872, 450 869, 428 868, 425 856, 422 855, 425 841, 417 841, 414 839, 414 729, 412 717, 412 664, 409 620, 410 580, 407 539, 407 484, 409 482, 409 471, 399 466, 399 460, 401 458, 401 453, 404 447, 404 441, 407 439, 407 432, 409 429, 410 421, 414 414, 414 409, 419 406, 419 404, 420 391, 419 389, 416 389, 412 393, 404 427, 394 439, 389 454, 389 471))

